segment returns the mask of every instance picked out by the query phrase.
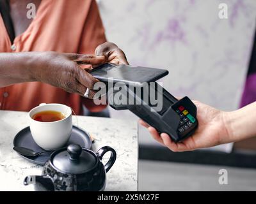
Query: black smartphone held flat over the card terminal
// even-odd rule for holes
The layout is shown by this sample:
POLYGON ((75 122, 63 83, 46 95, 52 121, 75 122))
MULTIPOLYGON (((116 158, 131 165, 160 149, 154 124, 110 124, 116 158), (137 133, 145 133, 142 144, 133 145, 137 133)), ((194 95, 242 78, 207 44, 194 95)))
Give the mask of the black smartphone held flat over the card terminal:
POLYGON ((155 82, 166 75, 166 69, 133 67, 124 64, 103 64, 92 69, 90 74, 102 82, 108 82, 109 78, 116 82, 132 83, 140 85, 143 82, 155 82))

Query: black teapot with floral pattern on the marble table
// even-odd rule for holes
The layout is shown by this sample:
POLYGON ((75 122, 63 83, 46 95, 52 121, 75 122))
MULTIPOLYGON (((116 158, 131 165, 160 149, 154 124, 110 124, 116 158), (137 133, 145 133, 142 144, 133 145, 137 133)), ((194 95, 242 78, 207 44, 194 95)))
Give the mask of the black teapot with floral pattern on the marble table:
POLYGON ((102 147, 95 153, 71 144, 53 152, 42 175, 26 177, 24 185, 35 184, 36 191, 103 191, 106 172, 115 160, 116 152, 111 147, 102 147), (111 156, 104 166, 101 159, 109 151, 111 156))

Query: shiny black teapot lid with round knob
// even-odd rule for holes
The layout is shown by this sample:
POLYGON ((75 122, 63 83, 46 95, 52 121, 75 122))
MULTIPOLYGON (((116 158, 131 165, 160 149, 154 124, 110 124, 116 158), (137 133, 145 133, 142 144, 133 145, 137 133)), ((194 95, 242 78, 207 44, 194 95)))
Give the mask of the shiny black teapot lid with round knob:
POLYGON ((97 164, 97 157, 92 150, 82 149, 80 145, 71 144, 52 154, 51 163, 63 173, 79 174, 92 170, 97 164))

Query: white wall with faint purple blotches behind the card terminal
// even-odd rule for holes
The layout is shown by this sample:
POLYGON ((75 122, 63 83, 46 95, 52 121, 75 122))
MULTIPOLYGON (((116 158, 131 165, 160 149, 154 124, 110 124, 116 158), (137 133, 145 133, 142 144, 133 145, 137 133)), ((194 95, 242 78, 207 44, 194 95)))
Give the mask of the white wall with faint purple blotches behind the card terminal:
MULTIPOLYGON (((239 105, 254 34, 255 0, 100 0, 109 41, 132 65, 166 68, 161 80, 223 110, 239 105), (228 4, 228 19, 218 5, 228 4)), ((118 117, 113 113, 115 117, 118 117)))

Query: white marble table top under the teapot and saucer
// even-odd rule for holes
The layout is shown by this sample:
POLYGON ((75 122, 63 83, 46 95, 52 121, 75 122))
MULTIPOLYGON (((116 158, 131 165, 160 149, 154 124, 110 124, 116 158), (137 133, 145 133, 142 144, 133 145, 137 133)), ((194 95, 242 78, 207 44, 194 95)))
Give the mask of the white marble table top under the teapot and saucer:
MULTIPOLYGON (((95 138, 93 150, 105 145, 116 150, 116 162, 107 173, 105 191, 137 191, 137 122, 74 116, 73 123, 95 138)), ((33 191, 33 185, 23 185, 24 177, 41 175, 42 166, 29 163, 12 149, 14 136, 27 126, 28 113, 0 111, 0 191, 33 191)))

